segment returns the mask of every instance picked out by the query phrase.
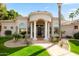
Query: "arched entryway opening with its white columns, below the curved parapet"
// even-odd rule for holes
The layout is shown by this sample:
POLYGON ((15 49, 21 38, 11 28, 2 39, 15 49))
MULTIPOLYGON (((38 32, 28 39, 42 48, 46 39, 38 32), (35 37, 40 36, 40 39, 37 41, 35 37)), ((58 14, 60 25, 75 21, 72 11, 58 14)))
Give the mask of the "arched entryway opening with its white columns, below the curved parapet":
POLYGON ((44 19, 38 19, 30 23, 30 38, 37 40, 49 40, 50 38, 50 22, 44 19))

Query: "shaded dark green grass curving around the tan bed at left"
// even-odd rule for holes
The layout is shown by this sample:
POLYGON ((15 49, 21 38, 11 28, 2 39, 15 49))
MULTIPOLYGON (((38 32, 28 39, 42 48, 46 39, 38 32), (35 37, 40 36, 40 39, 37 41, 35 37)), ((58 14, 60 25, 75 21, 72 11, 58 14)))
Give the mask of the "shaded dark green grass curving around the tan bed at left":
POLYGON ((7 56, 11 53, 14 53, 23 47, 17 47, 17 48, 8 48, 4 46, 4 42, 12 39, 11 36, 5 36, 5 37, 0 37, 0 56, 7 56))

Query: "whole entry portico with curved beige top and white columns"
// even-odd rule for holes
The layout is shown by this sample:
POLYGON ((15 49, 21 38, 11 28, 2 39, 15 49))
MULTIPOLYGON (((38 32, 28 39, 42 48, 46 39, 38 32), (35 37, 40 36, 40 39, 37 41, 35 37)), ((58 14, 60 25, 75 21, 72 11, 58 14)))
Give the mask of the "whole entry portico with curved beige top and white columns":
POLYGON ((52 15, 48 12, 32 12, 29 15, 30 38, 37 40, 37 38, 42 37, 45 40, 49 40, 51 20, 52 15))

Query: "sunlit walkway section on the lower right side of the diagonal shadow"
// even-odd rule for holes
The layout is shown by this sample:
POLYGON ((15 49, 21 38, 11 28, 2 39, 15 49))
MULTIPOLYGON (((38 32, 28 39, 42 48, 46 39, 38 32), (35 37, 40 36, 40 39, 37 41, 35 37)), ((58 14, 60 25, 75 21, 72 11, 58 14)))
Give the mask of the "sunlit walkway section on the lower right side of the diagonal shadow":
POLYGON ((77 56, 74 53, 69 52, 68 50, 61 48, 58 45, 54 45, 51 48, 47 49, 50 55, 52 56, 77 56))

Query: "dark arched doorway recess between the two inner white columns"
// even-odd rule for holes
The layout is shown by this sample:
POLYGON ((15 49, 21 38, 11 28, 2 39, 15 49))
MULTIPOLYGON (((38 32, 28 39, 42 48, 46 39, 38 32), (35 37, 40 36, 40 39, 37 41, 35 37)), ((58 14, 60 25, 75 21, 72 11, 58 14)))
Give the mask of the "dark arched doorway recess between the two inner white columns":
POLYGON ((44 26, 45 26, 45 21, 44 20, 39 19, 36 22, 37 38, 44 38, 44 29, 45 29, 44 26))

